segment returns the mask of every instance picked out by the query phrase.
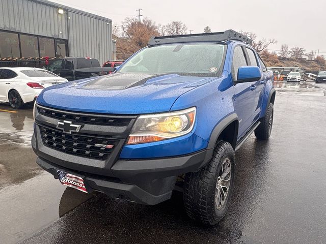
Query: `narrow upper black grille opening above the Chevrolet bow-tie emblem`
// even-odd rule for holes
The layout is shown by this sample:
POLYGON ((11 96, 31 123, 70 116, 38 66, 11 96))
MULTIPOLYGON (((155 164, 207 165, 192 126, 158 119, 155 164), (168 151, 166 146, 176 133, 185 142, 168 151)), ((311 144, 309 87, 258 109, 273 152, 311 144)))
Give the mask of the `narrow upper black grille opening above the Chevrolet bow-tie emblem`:
POLYGON ((130 123, 130 118, 112 118, 101 117, 89 114, 74 114, 65 111, 56 111, 43 107, 38 107, 38 112, 44 116, 56 119, 69 119, 72 122, 84 123, 90 125, 103 125, 103 126, 127 126, 130 123))

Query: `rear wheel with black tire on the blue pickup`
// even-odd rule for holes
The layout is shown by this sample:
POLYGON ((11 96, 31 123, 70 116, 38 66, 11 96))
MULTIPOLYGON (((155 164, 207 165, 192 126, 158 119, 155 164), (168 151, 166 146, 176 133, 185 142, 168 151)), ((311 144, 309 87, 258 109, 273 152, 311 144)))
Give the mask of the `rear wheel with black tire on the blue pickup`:
POLYGON ((255 136, 257 139, 267 140, 270 137, 271 128, 273 128, 273 119, 274 106, 273 103, 269 103, 265 117, 260 119, 260 125, 255 130, 255 136))

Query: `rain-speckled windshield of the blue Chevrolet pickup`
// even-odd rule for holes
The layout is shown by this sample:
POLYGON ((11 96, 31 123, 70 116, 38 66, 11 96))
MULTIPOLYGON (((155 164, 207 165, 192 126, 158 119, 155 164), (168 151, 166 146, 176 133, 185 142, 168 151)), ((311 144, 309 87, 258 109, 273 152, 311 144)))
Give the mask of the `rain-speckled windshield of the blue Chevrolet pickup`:
POLYGON ((216 43, 147 47, 124 63, 119 72, 218 76, 225 50, 226 45, 216 43))

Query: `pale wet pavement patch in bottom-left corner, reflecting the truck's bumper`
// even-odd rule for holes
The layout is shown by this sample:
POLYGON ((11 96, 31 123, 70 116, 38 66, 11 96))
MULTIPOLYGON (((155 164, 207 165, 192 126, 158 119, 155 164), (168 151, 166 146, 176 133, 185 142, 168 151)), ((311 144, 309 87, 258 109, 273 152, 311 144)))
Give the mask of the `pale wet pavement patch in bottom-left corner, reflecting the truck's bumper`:
POLYGON ((47 172, 0 189, 0 242, 29 238, 92 197, 63 187, 47 172))

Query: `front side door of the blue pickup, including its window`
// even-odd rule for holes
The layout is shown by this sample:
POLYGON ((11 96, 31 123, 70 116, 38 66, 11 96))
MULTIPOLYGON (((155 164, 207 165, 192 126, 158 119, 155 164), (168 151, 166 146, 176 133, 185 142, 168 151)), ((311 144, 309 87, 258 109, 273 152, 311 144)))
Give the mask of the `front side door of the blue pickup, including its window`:
POLYGON ((257 82, 245 82, 236 84, 238 69, 241 66, 250 65, 243 45, 235 46, 232 56, 231 76, 234 85, 234 108, 239 118, 238 138, 246 132, 252 124, 252 116, 256 110, 257 82))

